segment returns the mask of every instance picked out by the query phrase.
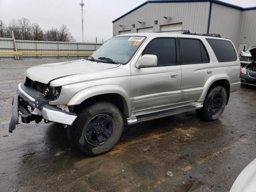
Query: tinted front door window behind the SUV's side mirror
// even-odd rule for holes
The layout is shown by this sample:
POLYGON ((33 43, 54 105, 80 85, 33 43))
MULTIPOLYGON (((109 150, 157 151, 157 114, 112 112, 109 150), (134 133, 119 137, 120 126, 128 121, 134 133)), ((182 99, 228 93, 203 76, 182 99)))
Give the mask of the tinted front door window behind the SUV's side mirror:
POLYGON ((157 56, 157 66, 176 65, 175 38, 153 39, 142 52, 142 56, 146 54, 157 56))

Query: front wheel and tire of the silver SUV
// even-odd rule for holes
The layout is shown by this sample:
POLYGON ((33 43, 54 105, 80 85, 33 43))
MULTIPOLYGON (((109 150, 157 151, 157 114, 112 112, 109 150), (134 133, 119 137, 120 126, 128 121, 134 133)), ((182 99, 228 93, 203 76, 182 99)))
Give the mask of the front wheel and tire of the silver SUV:
POLYGON ((109 102, 99 102, 80 109, 74 124, 67 128, 71 146, 87 156, 108 152, 120 139, 124 120, 119 108, 109 102))

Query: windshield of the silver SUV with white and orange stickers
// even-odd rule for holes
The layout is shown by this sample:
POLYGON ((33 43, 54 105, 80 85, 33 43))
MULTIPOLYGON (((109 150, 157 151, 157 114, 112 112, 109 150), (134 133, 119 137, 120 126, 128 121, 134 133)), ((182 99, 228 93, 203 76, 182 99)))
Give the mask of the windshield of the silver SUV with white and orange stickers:
POLYGON ((146 37, 142 36, 114 37, 103 44, 89 59, 102 60, 102 62, 110 59, 116 63, 126 64, 145 39, 146 37))

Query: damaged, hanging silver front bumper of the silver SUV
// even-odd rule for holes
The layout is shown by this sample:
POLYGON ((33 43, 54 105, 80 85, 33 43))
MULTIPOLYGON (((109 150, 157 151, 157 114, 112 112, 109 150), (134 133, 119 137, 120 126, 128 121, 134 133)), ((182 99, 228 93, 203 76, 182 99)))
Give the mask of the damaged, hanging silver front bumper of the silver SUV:
POLYGON ((34 102, 40 95, 40 92, 26 87, 22 83, 18 85, 17 94, 14 96, 12 102, 12 118, 9 124, 9 132, 12 132, 18 124, 18 112, 24 112, 24 110, 19 110, 22 107, 20 106, 22 101, 26 102, 33 109, 32 112, 25 115, 39 116, 50 122, 57 122, 64 125, 72 125, 74 123, 77 118, 75 113, 65 112, 49 104, 44 104, 40 108, 36 108, 34 102))

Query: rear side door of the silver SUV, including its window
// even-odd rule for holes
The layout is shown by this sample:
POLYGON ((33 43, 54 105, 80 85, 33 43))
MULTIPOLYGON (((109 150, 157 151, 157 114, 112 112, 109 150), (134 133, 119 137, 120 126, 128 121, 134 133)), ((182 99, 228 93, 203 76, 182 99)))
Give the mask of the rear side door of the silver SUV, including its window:
POLYGON ((181 102, 197 101, 204 90, 204 84, 214 75, 214 64, 202 38, 178 37, 182 69, 181 102))

